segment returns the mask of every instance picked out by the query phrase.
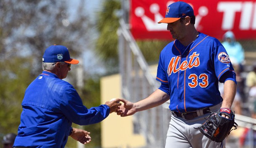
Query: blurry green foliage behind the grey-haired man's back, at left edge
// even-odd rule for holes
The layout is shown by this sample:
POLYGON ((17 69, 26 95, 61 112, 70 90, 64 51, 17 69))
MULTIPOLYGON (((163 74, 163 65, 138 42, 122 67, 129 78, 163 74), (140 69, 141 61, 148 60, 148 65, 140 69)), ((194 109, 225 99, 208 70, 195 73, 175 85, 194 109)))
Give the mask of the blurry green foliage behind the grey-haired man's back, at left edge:
POLYGON ((21 100, 31 81, 32 63, 26 58, 7 59, 0 62, 0 130, 17 132, 20 123, 21 100))

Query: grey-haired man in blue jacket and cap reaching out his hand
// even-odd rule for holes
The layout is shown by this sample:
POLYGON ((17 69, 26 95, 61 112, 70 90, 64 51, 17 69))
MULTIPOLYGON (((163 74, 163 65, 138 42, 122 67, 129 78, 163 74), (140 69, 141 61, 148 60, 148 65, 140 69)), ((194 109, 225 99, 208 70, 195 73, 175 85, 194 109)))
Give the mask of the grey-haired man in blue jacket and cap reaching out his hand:
MULTIPOLYGON (((68 48, 52 45, 44 51, 42 74, 29 84, 21 103, 21 123, 14 148, 64 148, 68 136, 86 144, 91 141, 89 132, 72 128, 72 123, 89 125, 101 122, 119 109, 119 99, 104 105, 87 108, 68 82, 62 80, 71 70, 68 48)), ((81 80, 82 81, 82 80, 81 80)))

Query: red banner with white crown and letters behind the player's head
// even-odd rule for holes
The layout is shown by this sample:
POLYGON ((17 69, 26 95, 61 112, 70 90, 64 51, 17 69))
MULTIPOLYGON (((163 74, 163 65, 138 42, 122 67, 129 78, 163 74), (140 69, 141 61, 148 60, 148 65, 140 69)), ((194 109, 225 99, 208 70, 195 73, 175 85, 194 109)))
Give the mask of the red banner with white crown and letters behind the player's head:
MULTIPOLYGON (((130 24, 135 39, 171 40, 165 17, 173 0, 131 0, 130 24)), ((237 39, 256 38, 256 0, 184 0, 196 15, 197 31, 222 39, 233 31, 237 39)))

